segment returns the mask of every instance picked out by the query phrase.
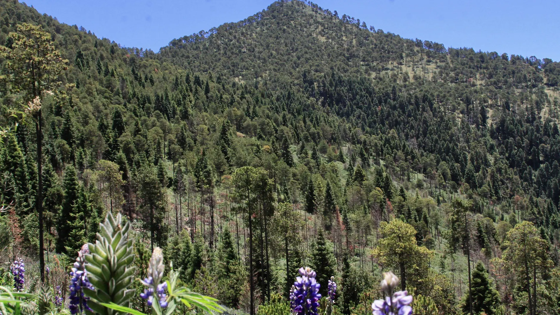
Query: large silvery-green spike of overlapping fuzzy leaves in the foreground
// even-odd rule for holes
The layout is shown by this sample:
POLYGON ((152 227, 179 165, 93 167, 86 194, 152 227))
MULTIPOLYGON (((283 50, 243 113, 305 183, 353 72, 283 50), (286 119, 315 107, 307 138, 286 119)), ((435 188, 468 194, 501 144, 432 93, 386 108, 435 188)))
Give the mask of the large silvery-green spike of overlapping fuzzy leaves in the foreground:
POLYGON ((87 301, 86 313, 100 315, 120 314, 104 306, 106 303, 128 306, 134 295, 129 289, 134 281, 136 267, 133 240, 128 239, 130 223, 122 225, 120 214, 109 212, 100 226, 95 244, 87 244, 85 271, 91 287, 82 287, 87 301))

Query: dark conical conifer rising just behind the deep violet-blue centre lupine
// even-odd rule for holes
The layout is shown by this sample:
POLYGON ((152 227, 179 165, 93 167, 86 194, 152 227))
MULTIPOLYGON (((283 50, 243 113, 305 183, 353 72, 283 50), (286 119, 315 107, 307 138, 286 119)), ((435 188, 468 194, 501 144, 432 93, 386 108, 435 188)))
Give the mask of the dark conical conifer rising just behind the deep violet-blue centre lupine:
POLYGON ((317 273, 316 279, 321 285, 319 293, 326 297, 327 284, 330 277, 334 276, 336 272, 336 260, 321 229, 319 229, 317 240, 311 252, 310 267, 317 273))

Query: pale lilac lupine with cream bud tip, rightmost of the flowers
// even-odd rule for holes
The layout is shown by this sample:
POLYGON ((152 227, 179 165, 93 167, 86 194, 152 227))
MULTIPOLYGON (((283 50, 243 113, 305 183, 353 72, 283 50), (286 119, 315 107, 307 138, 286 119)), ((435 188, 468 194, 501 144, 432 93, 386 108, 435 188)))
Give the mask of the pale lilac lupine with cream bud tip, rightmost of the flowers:
POLYGON ((406 290, 397 291, 393 290, 399 284, 399 278, 393 272, 384 272, 383 280, 381 281, 381 290, 386 294, 385 299, 375 300, 371 304, 373 315, 410 315, 412 314, 412 295, 408 295, 406 290))

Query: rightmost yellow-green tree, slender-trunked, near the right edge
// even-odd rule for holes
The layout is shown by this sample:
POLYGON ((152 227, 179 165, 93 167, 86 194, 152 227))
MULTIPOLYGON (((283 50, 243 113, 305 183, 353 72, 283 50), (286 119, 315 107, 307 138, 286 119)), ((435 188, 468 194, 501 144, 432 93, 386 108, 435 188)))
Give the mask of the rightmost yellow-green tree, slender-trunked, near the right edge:
POLYGON ((507 232, 504 245, 504 260, 515 271, 522 290, 527 292, 529 314, 535 315, 538 303, 537 276, 547 272, 553 265, 548 255, 548 242, 540 237, 533 223, 522 221, 507 232))

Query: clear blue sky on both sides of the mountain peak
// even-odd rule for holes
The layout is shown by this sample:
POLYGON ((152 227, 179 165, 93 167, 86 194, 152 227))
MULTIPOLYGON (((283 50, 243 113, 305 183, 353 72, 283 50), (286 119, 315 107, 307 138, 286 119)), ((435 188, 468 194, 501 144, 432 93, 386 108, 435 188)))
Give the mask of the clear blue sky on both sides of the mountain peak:
MULTIPOLYGON (((560 60, 560 1, 316 0, 368 26, 446 47, 560 60)), ((235 22, 272 0, 28 0, 40 13, 127 47, 159 50, 174 38, 235 22)))

